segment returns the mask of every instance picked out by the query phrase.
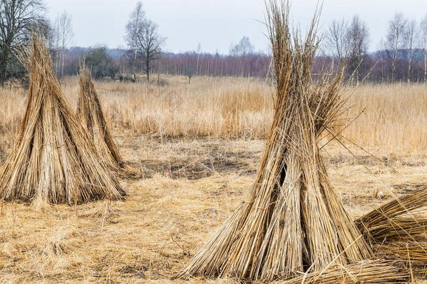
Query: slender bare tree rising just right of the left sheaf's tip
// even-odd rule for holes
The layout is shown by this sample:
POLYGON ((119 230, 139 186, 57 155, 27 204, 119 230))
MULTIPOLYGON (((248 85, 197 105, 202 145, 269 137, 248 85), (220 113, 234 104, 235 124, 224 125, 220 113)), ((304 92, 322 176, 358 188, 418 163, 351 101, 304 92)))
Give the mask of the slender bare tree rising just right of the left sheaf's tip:
POLYGON ((71 15, 62 12, 55 19, 53 42, 56 50, 55 71, 58 76, 64 76, 65 50, 73 39, 71 15))

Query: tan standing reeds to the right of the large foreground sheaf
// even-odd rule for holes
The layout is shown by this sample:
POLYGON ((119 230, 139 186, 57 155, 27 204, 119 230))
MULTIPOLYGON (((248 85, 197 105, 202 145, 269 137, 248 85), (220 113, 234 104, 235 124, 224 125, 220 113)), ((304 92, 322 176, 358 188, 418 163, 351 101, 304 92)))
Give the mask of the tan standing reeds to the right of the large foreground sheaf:
POLYGON ((363 111, 344 131, 349 140, 388 151, 426 151, 427 84, 361 85, 349 94, 353 107, 345 116, 363 111))

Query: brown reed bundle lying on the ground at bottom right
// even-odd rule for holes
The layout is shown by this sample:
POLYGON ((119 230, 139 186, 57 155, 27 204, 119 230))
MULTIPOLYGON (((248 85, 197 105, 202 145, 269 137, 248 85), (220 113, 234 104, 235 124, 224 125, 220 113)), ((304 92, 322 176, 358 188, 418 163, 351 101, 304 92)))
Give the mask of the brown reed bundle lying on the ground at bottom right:
POLYGON ((356 220, 378 257, 404 264, 419 277, 427 268, 427 187, 401 196, 356 220))

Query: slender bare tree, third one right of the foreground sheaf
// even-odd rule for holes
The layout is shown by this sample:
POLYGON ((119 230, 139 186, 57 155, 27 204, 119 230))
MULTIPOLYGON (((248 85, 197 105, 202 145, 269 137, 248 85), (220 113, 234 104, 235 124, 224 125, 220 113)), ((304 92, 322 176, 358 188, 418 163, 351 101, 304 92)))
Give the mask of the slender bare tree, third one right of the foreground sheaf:
POLYGON ((393 19, 388 22, 387 46, 391 53, 391 81, 395 81, 396 66, 398 64, 398 52, 404 44, 406 20, 402 13, 395 13, 393 19))

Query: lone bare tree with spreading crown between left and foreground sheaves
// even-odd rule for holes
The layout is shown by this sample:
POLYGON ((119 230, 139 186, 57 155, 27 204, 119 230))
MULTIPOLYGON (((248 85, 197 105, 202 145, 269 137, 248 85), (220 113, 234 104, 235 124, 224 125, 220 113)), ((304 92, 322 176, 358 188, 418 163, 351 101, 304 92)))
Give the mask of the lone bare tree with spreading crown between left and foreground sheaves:
POLYGON ((134 50, 135 64, 138 59, 141 60, 141 69, 145 72, 147 81, 150 81, 153 62, 160 59, 165 38, 158 34, 158 25, 146 18, 141 2, 137 3, 137 7, 130 15, 126 33, 127 44, 134 50))

